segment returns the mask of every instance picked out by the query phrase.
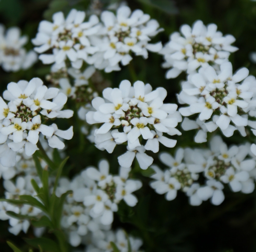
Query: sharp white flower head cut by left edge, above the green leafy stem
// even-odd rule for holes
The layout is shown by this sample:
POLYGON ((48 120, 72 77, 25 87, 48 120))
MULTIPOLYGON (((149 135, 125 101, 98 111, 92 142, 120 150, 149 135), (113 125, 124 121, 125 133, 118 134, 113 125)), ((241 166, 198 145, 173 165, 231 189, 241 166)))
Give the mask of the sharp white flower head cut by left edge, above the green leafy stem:
POLYGON ((39 134, 47 137, 52 148, 63 149, 64 143, 58 138, 71 139, 73 126, 63 131, 56 124, 44 123, 55 117, 70 118, 72 110, 61 110, 67 96, 59 89, 47 88, 39 78, 29 82, 11 82, 3 92, 5 101, 0 97, 0 163, 14 166, 16 153, 23 147, 26 155, 31 156, 37 149, 39 134), (43 122, 42 122, 43 120, 43 122))

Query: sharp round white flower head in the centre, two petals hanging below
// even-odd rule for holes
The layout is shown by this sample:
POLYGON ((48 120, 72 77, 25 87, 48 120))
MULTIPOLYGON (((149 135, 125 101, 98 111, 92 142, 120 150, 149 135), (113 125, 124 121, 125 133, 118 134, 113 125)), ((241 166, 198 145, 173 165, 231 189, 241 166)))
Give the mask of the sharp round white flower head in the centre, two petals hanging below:
POLYGON ((104 98, 92 101, 96 111, 86 114, 87 123, 103 123, 94 132, 96 147, 112 153, 117 144, 127 143, 127 152, 118 158, 120 166, 130 167, 136 157, 140 167, 147 169, 153 158, 145 150, 157 153, 159 143, 172 148, 177 140, 163 134, 181 135, 175 127, 182 117, 176 104, 163 103, 166 95, 166 89, 152 91, 142 81, 131 86, 128 80, 123 80, 119 88, 104 89, 104 98))

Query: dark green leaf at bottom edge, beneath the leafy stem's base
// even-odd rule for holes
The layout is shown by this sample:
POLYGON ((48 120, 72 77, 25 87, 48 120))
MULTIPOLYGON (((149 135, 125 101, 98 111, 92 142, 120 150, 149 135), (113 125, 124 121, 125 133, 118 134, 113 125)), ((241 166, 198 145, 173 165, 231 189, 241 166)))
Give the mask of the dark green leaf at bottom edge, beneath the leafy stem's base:
POLYGON ((52 241, 51 239, 41 237, 41 238, 24 239, 24 240, 26 241, 26 243, 28 243, 31 246, 34 246, 37 249, 41 247, 43 251, 60 252, 58 244, 55 243, 55 241, 52 241))

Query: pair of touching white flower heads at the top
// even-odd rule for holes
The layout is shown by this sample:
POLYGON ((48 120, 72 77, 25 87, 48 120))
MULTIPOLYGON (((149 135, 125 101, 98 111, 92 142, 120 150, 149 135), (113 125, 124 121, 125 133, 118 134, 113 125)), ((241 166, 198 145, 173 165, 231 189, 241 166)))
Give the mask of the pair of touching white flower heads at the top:
POLYGON ((135 55, 148 57, 148 51, 159 52, 162 43, 150 44, 148 41, 162 31, 156 20, 150 20, 148 14, 121 6, 116 16, 110 11, 103 11, 101 21, 91 15, 84 22, 85 12, 72 9, 66 19, 62 12, 52 16, 53 23, 41 21, 34 43, 35 51, 41 54, 39 59, 44 64, 52 64, 52 71, 66 66, 68 58, 71 65, 80 69, 83 61, 105 72, 120 70, 119 62, 128 65, 135 55))

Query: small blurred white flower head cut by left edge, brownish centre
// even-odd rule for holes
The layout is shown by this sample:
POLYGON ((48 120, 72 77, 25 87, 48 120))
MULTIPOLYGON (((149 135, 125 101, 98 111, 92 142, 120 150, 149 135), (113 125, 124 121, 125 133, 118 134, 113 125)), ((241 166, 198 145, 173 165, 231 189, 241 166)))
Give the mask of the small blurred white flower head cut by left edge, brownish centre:
POLYGON ((37 61, 37 54, 32 50, 26 52, 23 46, 28 37, 20 37, 20 29, 11 27, 7 29, 0 24, 0 65, 6 72, 26 70, 37 61))

